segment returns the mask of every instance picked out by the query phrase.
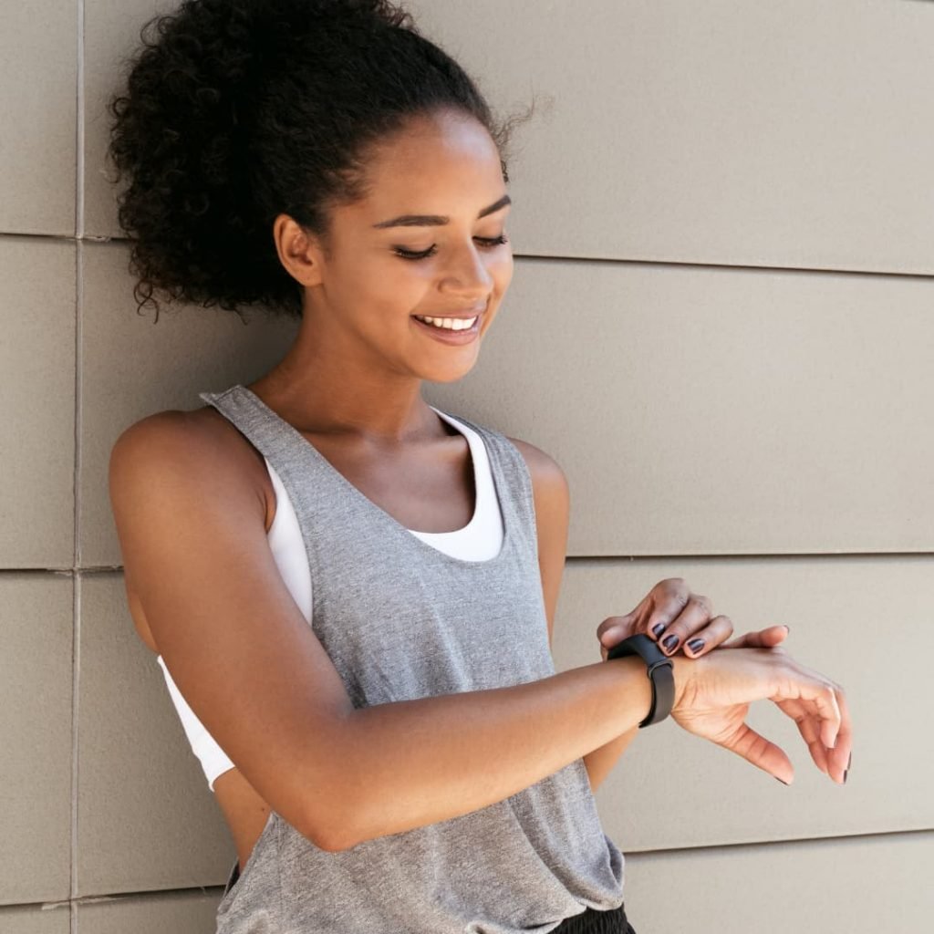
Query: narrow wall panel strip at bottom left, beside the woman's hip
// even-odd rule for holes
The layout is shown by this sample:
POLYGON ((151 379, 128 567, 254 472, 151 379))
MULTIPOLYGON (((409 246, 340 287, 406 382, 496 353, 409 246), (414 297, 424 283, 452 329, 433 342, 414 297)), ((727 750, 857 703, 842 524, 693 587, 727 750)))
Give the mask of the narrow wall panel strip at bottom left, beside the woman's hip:
POLYGON ((78 934, 211 934, 222 889, 78 902, 78 934))

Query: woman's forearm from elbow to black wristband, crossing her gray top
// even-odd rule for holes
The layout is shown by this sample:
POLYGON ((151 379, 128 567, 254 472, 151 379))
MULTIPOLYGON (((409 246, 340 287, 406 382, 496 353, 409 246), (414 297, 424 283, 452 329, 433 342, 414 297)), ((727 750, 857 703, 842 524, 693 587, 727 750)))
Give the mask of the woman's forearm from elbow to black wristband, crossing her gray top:
POLYGON ((486 807, 638 728, 651 700, 644 661, 619 658, 354 709, 318 789, 319 832, 342 849, 486 807))

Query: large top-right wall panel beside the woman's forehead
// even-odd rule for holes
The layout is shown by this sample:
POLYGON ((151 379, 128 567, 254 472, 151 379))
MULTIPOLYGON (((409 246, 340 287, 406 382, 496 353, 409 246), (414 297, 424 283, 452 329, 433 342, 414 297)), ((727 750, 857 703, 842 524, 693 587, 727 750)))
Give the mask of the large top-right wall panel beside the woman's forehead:
POLYGON ((502 113, 539 95, 518 253, 934 273, 934 4, 407 6, 502 113))

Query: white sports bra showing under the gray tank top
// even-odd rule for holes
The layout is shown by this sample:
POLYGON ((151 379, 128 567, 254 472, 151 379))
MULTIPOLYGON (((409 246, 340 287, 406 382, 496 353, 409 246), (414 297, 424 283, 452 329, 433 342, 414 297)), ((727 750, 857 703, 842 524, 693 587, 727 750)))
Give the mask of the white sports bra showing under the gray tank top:
MULTIPOLYGON (((474 516, 462 529, 455 531, 432 532, 414 529, 408 531, 428 545, 455 558, 471 561, 495 558, 500 553, 502 545, 502 512, 496 497, 496 488, 493 485, 493 475, 489 469, 487 447, 480 435, 472 428, 444 412, 439 412, 433 405, 430 408, 467 438, 471 460, 474 464, 476 487, 474 516)), ((289 588, 292 599, 302 611, 305 620, 311 625, 311 573, 308 569, 308 559, 304 550, 302 532, 299 530, 298 517, 295 516, 289 494, 282 485, 279 475, 276 474, 268 460, 265 458, 263 460, 273 482, 273 488, 276 490, 276 516, 273 518, 273 524, 266 533, 266 537, 273 557, 276 559, 276 567, 286 587, 289 588)), ((214 782, 217 777, 235 766, 181 696, 176 683, 172 680, 172 675, 165 667, 163 657, 157 655, 156 660, 165 675, 165 684, 168 686, 178 718, 191 744, 191 751, 201 762, 207 786, 214 791, 214 782)))

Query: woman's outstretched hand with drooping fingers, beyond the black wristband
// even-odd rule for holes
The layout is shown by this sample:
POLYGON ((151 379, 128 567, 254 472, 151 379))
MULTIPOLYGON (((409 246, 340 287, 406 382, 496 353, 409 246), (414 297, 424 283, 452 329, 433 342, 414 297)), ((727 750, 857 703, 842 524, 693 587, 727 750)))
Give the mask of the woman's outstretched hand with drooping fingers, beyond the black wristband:
POLYGON ((672 719, 790 785, 795 771, 785 751, 744 722, 751 701, 773 701, 798 724, 817 768, 842 784, 853 748, 843 688, 783 648, 732 647, 689 665, 674 659, 672 719))

